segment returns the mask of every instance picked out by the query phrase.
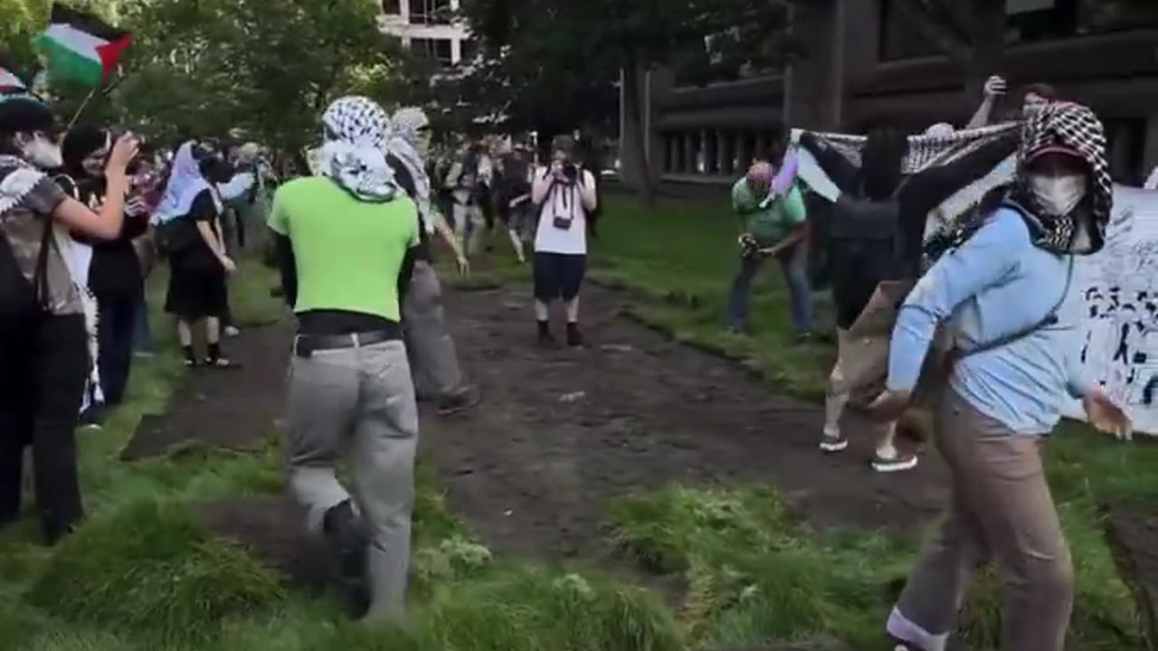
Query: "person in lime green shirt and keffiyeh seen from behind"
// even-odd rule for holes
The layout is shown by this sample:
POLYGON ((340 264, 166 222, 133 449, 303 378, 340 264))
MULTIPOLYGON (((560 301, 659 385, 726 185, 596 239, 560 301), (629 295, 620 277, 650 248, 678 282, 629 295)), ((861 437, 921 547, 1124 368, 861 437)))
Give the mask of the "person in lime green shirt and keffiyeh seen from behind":
POLYGON ((418 209, 386 160, 387 119, 365 97, 330 105, 318 176, 281 185, 269 221, 298 317, 290 485, 330 546, 351 612, 371 623, 403 609, 418 447, 398 305, 419 246, 418 209), (354 491, 335 475, 343 456, 354 491))

